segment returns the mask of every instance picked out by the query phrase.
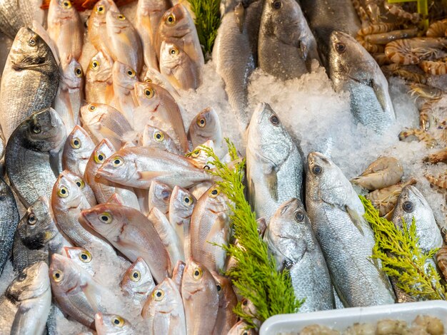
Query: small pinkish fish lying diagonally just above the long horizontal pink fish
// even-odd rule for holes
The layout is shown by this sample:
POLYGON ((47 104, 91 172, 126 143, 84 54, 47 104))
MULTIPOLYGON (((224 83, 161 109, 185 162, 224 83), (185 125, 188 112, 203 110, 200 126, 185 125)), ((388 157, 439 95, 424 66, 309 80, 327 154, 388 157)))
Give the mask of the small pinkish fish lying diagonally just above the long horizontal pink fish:
POLYGON ((119 110, 103 103, 89 103, 81 107, 84 127, 101 141, 107 138, 116 149, 121 148, 123 137, 133 129, 126 117, 119 110))

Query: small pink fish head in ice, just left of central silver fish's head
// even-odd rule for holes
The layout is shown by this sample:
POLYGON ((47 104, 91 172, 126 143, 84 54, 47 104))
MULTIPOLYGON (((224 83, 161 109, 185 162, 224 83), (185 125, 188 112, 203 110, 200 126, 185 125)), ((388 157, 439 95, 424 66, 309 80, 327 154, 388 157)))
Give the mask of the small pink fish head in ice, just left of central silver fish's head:
POLYGON ((194 143, 204 143, 215 138, 218 133, 221 133, 219 115, 211 107, 201 110, 189 125, 189 136, 194 143))

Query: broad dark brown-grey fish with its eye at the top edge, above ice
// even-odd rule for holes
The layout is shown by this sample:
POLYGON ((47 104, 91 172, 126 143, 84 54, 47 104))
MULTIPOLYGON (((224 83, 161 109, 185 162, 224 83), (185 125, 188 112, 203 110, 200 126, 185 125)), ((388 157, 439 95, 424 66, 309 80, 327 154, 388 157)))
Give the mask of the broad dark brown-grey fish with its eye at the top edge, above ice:
POLYGON ((265 0, 259 28, 259 67, 282 80, 299 78, 319 60, 315 37, 296 0, 265 0))

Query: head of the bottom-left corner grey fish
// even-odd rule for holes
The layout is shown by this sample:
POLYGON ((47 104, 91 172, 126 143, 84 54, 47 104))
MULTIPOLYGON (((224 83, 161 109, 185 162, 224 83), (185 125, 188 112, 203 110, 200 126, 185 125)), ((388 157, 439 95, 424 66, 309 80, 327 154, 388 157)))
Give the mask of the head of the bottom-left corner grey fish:
POLYGON ((41 261, 26 267, 6 289, 6 295, 24 301, 40 297, 49 288, 48 265, 41 261))

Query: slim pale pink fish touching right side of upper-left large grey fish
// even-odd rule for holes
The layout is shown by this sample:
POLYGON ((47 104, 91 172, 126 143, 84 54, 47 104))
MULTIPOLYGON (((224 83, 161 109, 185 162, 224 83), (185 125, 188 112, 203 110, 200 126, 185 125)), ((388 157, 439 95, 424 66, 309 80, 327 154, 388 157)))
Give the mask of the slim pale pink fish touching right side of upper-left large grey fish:
POLYGON ((79 125, 79 109, 84 102, 84 73, 71 55, 61 58, 59 72, 61 78, 54 109, 64 121, 66 132, 70 133, 75 125, 79 125))

